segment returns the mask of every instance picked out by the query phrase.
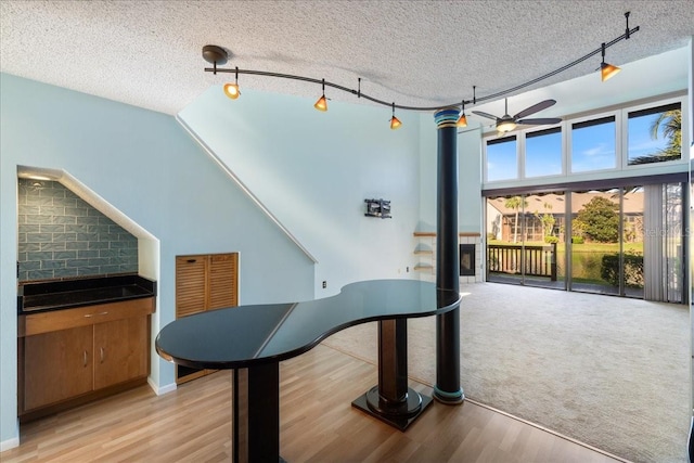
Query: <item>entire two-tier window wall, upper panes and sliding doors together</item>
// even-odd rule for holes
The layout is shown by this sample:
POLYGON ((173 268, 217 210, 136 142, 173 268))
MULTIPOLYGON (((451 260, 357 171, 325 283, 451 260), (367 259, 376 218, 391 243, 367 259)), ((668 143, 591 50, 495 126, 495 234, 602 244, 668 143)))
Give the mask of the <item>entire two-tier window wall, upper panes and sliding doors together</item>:
POLYGON ((486 138, 487 281, 686 300, 689 125, 678 97, 486 138))

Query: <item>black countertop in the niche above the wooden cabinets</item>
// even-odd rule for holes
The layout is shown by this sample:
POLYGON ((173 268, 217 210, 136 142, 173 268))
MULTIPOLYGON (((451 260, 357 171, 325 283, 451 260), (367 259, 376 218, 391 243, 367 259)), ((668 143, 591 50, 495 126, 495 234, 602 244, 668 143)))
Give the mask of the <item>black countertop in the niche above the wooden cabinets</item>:
POLYGON ((156 296, 156 282, 137 274, 23 283, 18 314, 72 309, 156 296))

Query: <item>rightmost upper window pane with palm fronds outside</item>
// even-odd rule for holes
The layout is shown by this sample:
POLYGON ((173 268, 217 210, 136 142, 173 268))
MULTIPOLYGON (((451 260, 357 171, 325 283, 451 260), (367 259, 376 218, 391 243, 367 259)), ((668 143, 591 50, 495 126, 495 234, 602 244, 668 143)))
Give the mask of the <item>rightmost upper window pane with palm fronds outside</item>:
POLYGON ((661 163, 682 157, 682 110, 680 103, 629 113, 627 160, 661 163))

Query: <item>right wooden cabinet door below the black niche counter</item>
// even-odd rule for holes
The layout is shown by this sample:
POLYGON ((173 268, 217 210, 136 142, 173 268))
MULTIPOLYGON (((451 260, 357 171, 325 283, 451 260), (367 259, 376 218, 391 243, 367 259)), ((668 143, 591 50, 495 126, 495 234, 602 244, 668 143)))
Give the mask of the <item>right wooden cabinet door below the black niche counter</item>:
POLYGON ((146 317, 94 325, 94 389, 147 375, 147 326, 146 317))

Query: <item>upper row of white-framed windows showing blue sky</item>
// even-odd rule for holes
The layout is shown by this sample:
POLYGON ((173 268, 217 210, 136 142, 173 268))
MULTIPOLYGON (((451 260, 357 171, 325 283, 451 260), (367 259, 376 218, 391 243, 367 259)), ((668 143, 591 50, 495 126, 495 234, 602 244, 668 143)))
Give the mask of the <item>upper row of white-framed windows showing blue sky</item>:
MULTIPOLYGON (((552 178, 614 171, 615 177, 653 164, 682 164, 682 132, 690 114, 682 97, 564 119, 553 127, 523 127, 485 140, 485 183, 523 185, 553 182, 552 178)), ((684 138, 684 139, 683 139, 684 138)), ((663 167, 658 167, 661 169, 663 167)))

